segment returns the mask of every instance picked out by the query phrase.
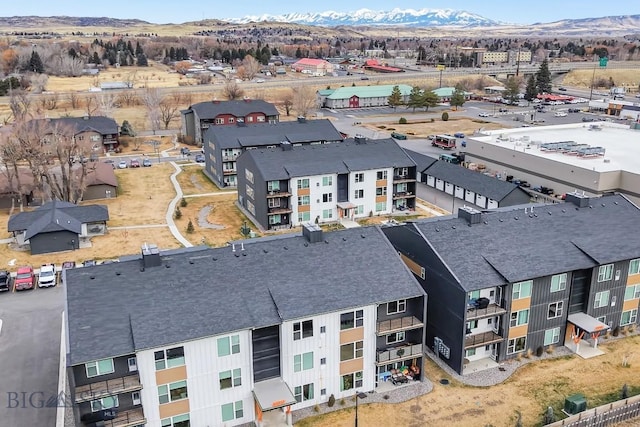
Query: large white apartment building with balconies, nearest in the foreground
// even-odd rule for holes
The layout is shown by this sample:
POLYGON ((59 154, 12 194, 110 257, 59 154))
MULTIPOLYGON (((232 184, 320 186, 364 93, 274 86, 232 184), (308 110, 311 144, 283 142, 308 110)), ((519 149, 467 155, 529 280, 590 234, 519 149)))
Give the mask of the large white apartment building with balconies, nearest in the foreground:
POLYGON ((426 300, 415 274, 377 227, 313 225, 67 270, 77 418, 267 425, 389 387, 392 369, 419 380, 426 300))

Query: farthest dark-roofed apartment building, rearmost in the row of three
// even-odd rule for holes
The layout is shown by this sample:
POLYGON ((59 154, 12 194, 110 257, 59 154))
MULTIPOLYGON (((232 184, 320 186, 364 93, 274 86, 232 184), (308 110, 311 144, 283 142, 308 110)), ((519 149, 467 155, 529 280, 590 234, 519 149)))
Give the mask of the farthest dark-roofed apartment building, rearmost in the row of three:
POLYGON ((180 112, 182 135, 196 145, 202 145, 202 137, 211 126, 275 123, 280 114, 273 104, 260 99, 232 101, 208 101, 189 106, 180 112))

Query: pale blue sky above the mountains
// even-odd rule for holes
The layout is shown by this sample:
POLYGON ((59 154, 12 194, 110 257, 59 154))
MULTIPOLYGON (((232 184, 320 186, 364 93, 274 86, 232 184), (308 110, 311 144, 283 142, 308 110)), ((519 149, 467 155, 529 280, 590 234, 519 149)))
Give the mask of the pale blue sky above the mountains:
POLYGON ((284 13, 349 12, 358 9, 456 9, 477 13, 497 21, 531 24, 568 18, 597 18, 613 15, 640 14, 640 1, 602 0, 321 0, 305 2, 293 0, 13 0, 3 2, 2 16, 107 16, 137 18, 154 23, 182 23, 200 19, 239 18, 246 15, 284 13))

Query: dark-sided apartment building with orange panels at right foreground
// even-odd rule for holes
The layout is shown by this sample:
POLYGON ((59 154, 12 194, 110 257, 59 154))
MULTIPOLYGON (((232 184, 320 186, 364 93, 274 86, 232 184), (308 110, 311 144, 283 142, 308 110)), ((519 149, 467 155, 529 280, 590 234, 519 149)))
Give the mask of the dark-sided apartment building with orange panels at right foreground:
MULTIPOLYGON (((428 295, 427 341, 456 372, 638 323, 640 209, 621 195, 385 227, 428 295)), ((584 342, 586 341, 586 343, 584 342)), ((577 345, 579 344, 579 346, 577 345)))

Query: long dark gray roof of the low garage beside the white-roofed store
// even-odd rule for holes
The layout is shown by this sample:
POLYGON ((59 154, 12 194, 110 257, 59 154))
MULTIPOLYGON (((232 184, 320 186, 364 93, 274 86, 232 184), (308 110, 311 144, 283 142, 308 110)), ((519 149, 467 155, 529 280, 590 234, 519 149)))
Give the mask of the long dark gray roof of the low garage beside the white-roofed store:
POLYGON ((476 194, 488 197, 497 202, 514 191, 524 192, 524 190, 511 182, 502 181, 442 160, 435 161, 426 171, 423 171, 423 173, 473 191, 476 194))

